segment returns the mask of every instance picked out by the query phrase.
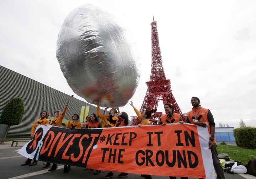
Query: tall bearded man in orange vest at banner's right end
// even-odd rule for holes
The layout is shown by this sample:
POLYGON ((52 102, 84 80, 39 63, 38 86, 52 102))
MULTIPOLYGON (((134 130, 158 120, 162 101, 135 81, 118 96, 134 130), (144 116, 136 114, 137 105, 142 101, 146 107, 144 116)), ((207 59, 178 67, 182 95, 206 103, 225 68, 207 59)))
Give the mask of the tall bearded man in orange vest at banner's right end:
POLYGON ((203 128, 208 128, 209 131, 209 148, 212 152, 213 166, 217 173, 218 179, 225 179, 222 165, 220 164, 218 158, 218 152, 216 148, 215 140, 215 122, 213 115, 209 109, 202 108, 200 105, 200 100, 197 97, 191 98, 191 104, 193 106, 192 110, 187 113, 187 123, 202 126, 203 128), (207 124, 206 124, 207 123, 207 124))

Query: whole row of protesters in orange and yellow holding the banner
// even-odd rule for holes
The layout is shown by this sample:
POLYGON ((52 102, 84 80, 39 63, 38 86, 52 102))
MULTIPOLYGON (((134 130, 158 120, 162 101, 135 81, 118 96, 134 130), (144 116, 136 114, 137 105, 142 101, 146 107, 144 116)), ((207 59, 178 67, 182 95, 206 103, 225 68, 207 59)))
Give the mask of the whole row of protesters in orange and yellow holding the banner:
MULTIPOLYGON (((36 120, 32 130, 31 130, 31 139, 33 138, 34 132, 36 130, 36 127, 38 125, 46 125, 50 124, 53 126, 61 126, 62 125, 62 120, 64 118, 64 115, 66 113, 66 109, 68 107, 68 102, 69 99, 66 103, 66 106, 60 115, 60 111, 56 110, 54 112, 54 119, 50 120, 48 119, 49 113, 46 111, 43 111, 41 113, 41 118, 36 120)), ((209 149, 211 150, 212 153, 212 159, 213 159, 213 166, 214 169, 217 173, 217 178, 218 179, 225 179, 224 177, 224 172, 222 165, 220 164, 219 158, 218 158, 218 153, 217 153, 217 148, 216 148, 216 140, 214 137, 215 133, 215 122, 213 119, 213 115, 210 112, 209 109, 202 108, 200 105, 200 100, 197 97, 192 97, 191 98, 191 104, 193 106, 192 110, 187 113, 187 123, 191 123, 194 125, 201 126, 203 128, 208 128, 209 131, 209 149), (206 123, 208 125, 206 125, 206 123)), ((152 113, 155 113, 153 110, 144 110, 142 113, 140 113, 133 105, 133 102, 130 101, 130 105, 133 107, 135 113, 138 116, 138 119, 140 120, 140 124, 138 126, 143 126, 143 125, 150 125, 150 117, 152 113)), ((68 121, 68 124, 66 125, 66 128, 68 129, 91 129, 91 128, 111 128, 111 127, 121 127, 121 126, 128 126, 128 114, 126 112, 120 113, 119 108, 112 108, 110 109, 109 115, 106 115, 107 107, 105 107, 104 113, 100 113, 100 106, 97 106, 97 115, 92 113, 91 116, 86 116, 86 123, 81 123, 78 121, 79 120, 79 115, 74 114, 70 116, 70 119, 68 121), (100 125, 101 123, 99 122, 98 118, 102 120, 102 126, 100 125), (73 119, 73 121, 71 121, 73 119)), ((184 121, 182 120, 182 117, 180 114, 177 114, 174 112, 174 109, 172 108, 172 105, 170 103, 165 103, 164 104, 164 109, 166 114, 161 115, 159 124, 160 125, 166 125, 166 124, 171 124, 171 123, 181 123, 183 124, 184 121)), ((27 161, 23 164, 24 165, 29 165, 33 166, 37 164, 37 161, 34 160, 33 163, 32 159, 27 159, 27 161)), ((50 166, 50 163, 47 163, 43 168, 47 168, 50 166)), ((52 167, 48 171, 53 171, 57 169, 57 164, 52 164, 52 167)), ((71 169, 70 166, 65 165, 64 166, 64 172, 69 172, 71 169)), ((87 168, 85 170, 88 170, 87 168)), ((93 169, 91 169, 93 170, 93 169)), ((99 174, 100 170, 96 170, 94 173, 95 175, 99 174)), ((114 173, 110 171, 105 178, 111 178, 113 177, 114 173)), ((120 173, 118 175, 119 178, 127 177, 128 173, 120 173)), ((145 179, 152 179, 151 175, 145 175, 142 174, 142 177, 145 177, 145 179)), ((170 179, 176 179, 176 177, 170 176, 170 179)), ((181 177, 181 179, 187 179, 187 177, 181 177)))

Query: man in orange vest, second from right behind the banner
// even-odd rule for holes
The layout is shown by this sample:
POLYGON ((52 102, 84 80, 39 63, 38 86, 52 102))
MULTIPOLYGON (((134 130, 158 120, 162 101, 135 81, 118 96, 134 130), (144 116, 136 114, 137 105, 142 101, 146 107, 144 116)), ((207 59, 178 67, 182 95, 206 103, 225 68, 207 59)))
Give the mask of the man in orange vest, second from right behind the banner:
MULTIPOLYGON (((165 115, 161 115, 161 119, 159 121, 159 124, 161 125, 166 125, 166 124, 171 124, 171 123, 181 123, 183 124, 184 121, 181 118, 180 114, 177 114, 174 112, 174 109, 172 109, 171 103, 165 103, 164 104, 165 108, 165 115)), ((171 177, 170 179, 176 179, 176 177, 171 177)), ((187 177, 181 177, 181 179, 187 179, 187 177)))

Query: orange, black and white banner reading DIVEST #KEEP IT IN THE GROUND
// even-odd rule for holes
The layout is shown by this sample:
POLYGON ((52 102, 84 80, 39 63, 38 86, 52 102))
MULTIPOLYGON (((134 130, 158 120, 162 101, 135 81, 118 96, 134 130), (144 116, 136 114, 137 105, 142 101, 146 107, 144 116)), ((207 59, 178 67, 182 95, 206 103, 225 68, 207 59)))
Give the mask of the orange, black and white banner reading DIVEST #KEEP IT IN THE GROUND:
POLYGON ((213 179, 207 128, 193 124, 65 129, 38 126, 18 152, 39 161, 98 170, 213 179))

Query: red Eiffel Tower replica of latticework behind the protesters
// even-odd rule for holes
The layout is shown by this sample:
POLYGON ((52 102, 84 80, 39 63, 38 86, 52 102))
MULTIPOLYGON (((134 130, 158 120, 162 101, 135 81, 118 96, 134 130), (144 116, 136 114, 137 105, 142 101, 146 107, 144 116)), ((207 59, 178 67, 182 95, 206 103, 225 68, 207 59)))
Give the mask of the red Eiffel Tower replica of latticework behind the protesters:
MULTIPOLYGON (((140 113, 144 110, 154 110, 157 111, 158 102, 162 101, 165 103, 171 103, 172 108, 175 110, 175 113, 178 113, 182 116, 182 119, 185 121, 185 116, 181 113, 180 107, 172 95, 171 92, 171 81, 166 80, 164 69, 162 67, 162 56, 159 46, 159 38, 156 21, 151 22, 151 43, 152 43, 152 68, 150 81, 146 82, 148 90, 144 98, 142 107, 140 108, 140 113)), ((151 114, 150 123, 157 124, 158 118, 162 115, 162 112, 156 112, 151 114)), ((140 120, 137 116, 131 116, 133 121, 132 125, 140 124, 140 120)))

